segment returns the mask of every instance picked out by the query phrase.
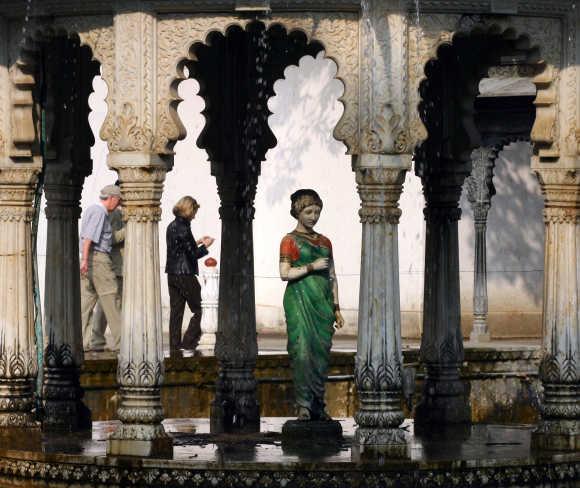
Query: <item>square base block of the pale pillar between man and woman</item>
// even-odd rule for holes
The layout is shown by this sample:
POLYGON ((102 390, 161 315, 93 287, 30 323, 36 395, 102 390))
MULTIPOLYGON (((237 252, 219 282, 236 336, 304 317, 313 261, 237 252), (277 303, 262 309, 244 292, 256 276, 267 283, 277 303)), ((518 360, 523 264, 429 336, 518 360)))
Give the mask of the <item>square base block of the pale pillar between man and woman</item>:
POLYGON ((111 456, 173 457, 173 439, 161 424, 121 425, 107 442, 111 456))

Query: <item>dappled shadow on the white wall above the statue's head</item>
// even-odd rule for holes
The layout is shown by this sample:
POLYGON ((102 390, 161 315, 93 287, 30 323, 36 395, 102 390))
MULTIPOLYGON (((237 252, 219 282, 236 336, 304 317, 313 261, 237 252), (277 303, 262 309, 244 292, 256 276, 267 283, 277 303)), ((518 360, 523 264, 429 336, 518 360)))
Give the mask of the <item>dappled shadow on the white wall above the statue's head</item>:
POLYGON ((289 190, 299 186, 296 175, 307 160, 305 154, 311 149, 324 146, 328 147, 330 157, 344 156, 343 144, 328 144, 328 134, 332 134, 338 121, 336 100, 344 92, 342 83, 335 78, 336 73, 336 64, 325 59, 321 51, 316 58, 304 56, 299 66, 286 68, 284 79, 274 84, 275 96, 268 101, 273 114, 268 124, 278 144, 268 151, 266 161, 269 162, 274 151, 276 164, 283 162, 283 168, 276 171, 274 181, 266 190, 268 204, 287 200, 287 191, 280 191, 280 188, 289 190), (312 123, 314 120, 318 122, 316 125, 312 123))

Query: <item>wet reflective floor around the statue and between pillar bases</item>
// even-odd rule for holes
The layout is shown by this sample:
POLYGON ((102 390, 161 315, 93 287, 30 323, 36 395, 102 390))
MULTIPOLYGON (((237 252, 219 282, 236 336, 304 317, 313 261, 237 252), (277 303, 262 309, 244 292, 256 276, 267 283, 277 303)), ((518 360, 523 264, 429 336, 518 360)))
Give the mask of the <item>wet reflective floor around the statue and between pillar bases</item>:
MULTIPOLYGON (((309 442, 288 446, 282 442, 281 429, 286 418, 262 419, 261 432, 246 435, 211 435, 208 419, 171 419, 164 421, 166 431, 174 438, 175 461, 210 464, 236 463, 352 463, 359 459, 351 453, 354 436, 352 418, 338 419, 344 439, 339 443, 309 442)), ((26 449, 44 453, 101 457, 106 455, 107 436, 117 421, 94 422, 92 437, 83 434, 42 434, 42 442, 26 444, 26 439, 3 438, 3 449, 26 449), (36 446, 36 448, 34 447, 36 446)), ((437 463, 440 461, 479 461, 525 459, 531 455, 529 425, 472 425, 445 432, 415 433, 413 423, 406 421, 408 432, 406 461, 437 463)), ((389 460, 387 459, 387 462, 389 460)), ((399 460, 400 462, 400 460, 399 460)))

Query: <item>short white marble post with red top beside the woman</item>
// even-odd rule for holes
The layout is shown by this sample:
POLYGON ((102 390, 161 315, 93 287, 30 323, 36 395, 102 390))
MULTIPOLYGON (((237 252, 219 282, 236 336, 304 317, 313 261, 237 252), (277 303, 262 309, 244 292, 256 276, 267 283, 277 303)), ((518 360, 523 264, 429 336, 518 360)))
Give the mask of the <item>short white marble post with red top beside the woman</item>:
POLYGON ((208 258, 201 276, 201 338, 197 350, 202 354, 213 354, 218 323, 219 279, 217 261, 208 258))

